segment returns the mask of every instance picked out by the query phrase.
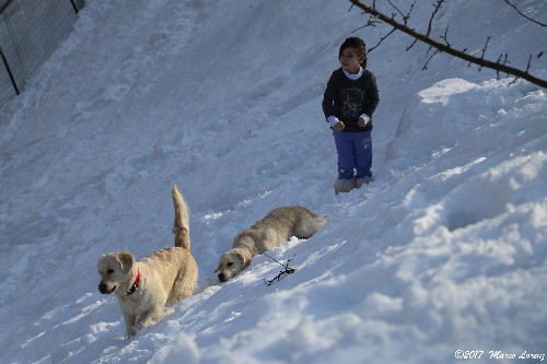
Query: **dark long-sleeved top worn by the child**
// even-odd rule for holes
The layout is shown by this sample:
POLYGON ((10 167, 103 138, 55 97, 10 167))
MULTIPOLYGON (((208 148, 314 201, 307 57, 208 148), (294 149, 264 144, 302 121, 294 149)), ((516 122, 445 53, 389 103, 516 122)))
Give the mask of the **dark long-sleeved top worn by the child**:
POLYGON ((372 114, 380 102, 376 78, 372 72, 364 70, 358 80, 350 80, 344 74, 342 68, 330 75, 327 89, 323 96, 323 113, 325 118, 336 116, 346 126, 344 131, 372 130, 372 114), (359 127, 357 121, 365 114, 371 122, 359 127))

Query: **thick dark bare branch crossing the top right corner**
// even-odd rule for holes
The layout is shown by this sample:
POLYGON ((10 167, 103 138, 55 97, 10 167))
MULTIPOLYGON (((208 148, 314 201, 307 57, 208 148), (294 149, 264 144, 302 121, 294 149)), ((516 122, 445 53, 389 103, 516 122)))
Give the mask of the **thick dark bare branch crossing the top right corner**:
MULTIPOLYGON (((488 59, 485 59, 485 52, 486 52, 486 46, 482 49, 482 56, 480 58, 472 56, 469 54, 466 54, 465 51, 457 50, 450 45, 444 45, 442 43, 439 43, 431 37, 427 36, 426 34, 421 34, 410 27, 408 27, 405 24, 401 24, 397 22, 394 17, 389 17, 377 11, 374 7, 369 7, 363 3, 361 3, 359 0, 350 0, 356 7, 362 9, 365 13, 371 14, 372 16, 380 19, 382 22, 391 25, 394 27, 394 30, 400 31, 403 33, 406 33, 410 35, 411 37, 433 47, 437 48, 441 52, 446 52, 451 56, 457 57, 459 59, 463 59, 465 61, 468 61, 470 63, 477 64, 479 67, 486 67, 496 71, 504 72, 512 74, 516 78, 521 78, 523 80, 526 80, 528 82, 532 82, 538 86, 542 86, 544 89, 547 89, 547 81, 542 80, 531 73, 528 73, 529 70, 529 61, 528 61, 528 67, 526 68, 526 71, 519 70, 513 67, 509 67, 505 63, 500 63, 500 62, 493 62, 488 59)), ((487 42, 488 45, 488 42, 487 42)))

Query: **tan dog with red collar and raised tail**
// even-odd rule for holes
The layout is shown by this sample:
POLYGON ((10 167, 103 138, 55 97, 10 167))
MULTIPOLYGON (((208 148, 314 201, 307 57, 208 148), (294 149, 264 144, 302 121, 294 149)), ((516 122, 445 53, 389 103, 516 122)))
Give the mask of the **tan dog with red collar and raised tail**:
POLYGON ((98 259, 101 274, 98 291, 116 293, 124 314, 127 336, 136 333, 139 327, 147 327, 159 320, 166 305, 174 305, 191 296, 198 279, 198 266, 190 253, 188 209, 183 196, 173 188, 175 207, 175 247, 155 251, 136 261, 127 251, 112 253, 98 259))

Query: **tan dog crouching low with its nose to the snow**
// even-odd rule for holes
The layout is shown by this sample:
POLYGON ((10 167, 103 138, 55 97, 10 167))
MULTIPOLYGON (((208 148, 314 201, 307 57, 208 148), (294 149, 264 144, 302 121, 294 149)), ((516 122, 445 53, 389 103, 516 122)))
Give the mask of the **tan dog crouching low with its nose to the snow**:
POLYGON ((219 280, 225 282, 248 267, 255 256, 291 236, 310 238, 327 221, 328 216, 318 216, 300 206, 277 208, 234 238, 232 250, 220 256, 214 273, 219 272, 219 280))

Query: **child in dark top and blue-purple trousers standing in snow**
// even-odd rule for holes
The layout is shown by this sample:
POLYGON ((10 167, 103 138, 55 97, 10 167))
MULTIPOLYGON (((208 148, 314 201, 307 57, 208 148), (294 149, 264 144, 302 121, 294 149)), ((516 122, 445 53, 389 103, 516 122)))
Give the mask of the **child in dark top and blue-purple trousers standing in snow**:
POLYGON ((338 153, 336 195, 374 180, 372 114, 380 102, 376 79, 366 70, 364 42, 347 38, 340 46, 338 59, 341 68, 330 75, 323 96, 323 113, 333 129, 338 153))

